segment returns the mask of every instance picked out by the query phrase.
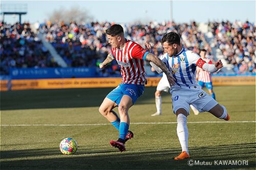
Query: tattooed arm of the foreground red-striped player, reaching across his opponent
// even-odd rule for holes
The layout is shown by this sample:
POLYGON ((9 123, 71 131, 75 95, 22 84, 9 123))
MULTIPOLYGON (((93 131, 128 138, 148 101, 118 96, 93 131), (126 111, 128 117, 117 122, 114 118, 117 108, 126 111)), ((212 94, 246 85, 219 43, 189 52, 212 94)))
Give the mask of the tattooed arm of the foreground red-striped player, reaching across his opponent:
POLYGON ((157 56, 153 55, 152 53, 148 53, 146 55, 146 60, 154 63, 166 74, 170 86, 173 86, 175 84, 175 79, 174 79, 173 75, 170 73, 170 71, 168 70, 166 65, 157 56))

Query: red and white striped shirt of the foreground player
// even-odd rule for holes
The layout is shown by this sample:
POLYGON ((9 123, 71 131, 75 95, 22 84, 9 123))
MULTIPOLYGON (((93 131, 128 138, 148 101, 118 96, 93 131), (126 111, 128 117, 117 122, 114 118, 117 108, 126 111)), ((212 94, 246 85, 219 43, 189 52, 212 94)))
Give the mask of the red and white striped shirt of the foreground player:
MULTIPOLYGON (((121 67, 123 84, 146 84, 143 56, 147 51, 131 40, 127 40, 122 50, 113 48, 111 54, 121 67)), ((145 54, 146 55, 146 54, 145 54)))

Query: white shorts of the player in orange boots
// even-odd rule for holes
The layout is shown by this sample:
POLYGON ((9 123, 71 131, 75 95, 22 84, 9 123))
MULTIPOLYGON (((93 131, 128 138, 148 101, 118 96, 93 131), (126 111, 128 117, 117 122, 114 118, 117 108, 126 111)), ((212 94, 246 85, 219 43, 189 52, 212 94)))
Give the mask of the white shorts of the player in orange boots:
POLYGON ((189 105, 193 105, 199 112, 209 111, 215 107, 218 102, 212 99, 204 90, 175 90, 172 94, 174 114, 180 108, 183 108, 189 114, 189 105))

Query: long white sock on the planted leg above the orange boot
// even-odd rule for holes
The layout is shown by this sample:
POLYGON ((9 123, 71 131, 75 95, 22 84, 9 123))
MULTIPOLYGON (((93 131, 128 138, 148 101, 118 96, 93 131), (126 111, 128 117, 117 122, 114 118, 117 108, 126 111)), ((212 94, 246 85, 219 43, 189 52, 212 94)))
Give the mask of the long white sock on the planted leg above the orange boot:
POLYGON ((180 140, 182 152, 188 153, 188 130, 187 130, 187 117, 184 114, 177 116, 177 135, 180 140))

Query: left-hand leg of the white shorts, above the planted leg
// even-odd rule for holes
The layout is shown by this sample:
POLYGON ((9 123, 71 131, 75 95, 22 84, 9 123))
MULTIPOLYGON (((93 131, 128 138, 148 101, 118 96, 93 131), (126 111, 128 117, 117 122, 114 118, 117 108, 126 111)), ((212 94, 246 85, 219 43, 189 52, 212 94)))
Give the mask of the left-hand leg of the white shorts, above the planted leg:
MULTIPOLYGON (((188 98, 187 95, 179 95, 179 94, 172 95, 174 114, 177 114, 177 111, 180 111, 180 109, 181 110, 184 109, 187 115, 189 114, 189 101, 187 100, 187 98, 188 98)), ((182 113, 184 112, 184 110, 182 111, 182 113)))

